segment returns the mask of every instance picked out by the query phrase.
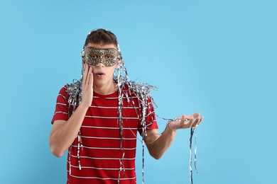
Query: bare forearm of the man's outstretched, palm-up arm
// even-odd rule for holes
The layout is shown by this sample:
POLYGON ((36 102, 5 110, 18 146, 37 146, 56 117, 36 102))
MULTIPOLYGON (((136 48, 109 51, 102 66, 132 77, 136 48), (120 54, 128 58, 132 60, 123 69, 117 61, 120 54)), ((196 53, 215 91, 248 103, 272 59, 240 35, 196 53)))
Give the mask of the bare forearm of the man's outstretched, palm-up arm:
POLYGON ((155 159, 161 159, 165 151, 173 143, 175 139, 175 130, 170 130, 170 128, 166 127, 161 136, 157 137, 153 142, 146 142, 148 147, 148 151, 155 159))

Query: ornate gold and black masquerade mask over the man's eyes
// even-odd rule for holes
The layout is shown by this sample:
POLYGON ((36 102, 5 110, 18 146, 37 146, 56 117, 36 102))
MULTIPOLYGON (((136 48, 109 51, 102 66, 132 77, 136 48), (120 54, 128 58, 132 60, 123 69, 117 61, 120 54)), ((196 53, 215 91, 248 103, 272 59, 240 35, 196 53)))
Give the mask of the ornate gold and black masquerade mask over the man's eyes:
POLYGON ((95 47, 85 47, 81 54, 82 61, 90 66, 102 63, 106 67, 112 67, 121 59, 121 53, 113 48, 97 49, 95 47))

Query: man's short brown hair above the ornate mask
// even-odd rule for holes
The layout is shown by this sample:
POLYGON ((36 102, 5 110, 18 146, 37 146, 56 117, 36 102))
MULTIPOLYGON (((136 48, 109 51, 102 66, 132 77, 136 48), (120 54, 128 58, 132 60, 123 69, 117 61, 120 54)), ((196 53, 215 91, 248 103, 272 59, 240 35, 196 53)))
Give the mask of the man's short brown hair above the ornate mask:
POLYGON ((116 35, 112 33, 109 30, 105 29, 97 29, 92 30, 85 40, 85 46, 87 46, 89 43, 95 43, 95 44, 114 44, 116 47, 118 45, 116 35))

